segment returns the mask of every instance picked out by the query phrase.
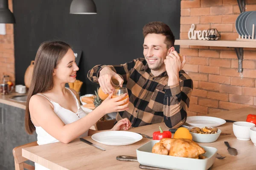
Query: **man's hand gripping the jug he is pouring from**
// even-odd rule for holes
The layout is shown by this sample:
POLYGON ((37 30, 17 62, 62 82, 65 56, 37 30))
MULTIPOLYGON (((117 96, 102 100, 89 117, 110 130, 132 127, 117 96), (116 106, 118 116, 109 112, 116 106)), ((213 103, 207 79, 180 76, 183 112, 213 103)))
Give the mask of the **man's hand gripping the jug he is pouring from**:
MULTIPOLYGON (((102 68, 101 71, 99 71, 99 85, 102 88, 102 91, 105 94, 111 94, 113 91, 113 86, 111 85, 111 77, 113 74, 116 74, 114 71, 111 70, 109 67, 102 68)), ((121 77, 116 77, 116 79, 119 82, 123 82, 123 79, 121 77)))

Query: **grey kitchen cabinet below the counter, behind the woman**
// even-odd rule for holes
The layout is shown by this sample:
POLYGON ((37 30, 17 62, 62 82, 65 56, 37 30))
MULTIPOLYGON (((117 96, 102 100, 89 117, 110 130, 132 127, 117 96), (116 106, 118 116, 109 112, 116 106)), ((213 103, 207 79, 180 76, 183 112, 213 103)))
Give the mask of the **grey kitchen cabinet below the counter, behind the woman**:
MULTIPOLYGON (((25 110, 0 103, 0 170, 14 170, 14 147, 36 141, 36 134, 25 131, 25 110)), ((28 161, 32 164, 33 162, 28 161)))

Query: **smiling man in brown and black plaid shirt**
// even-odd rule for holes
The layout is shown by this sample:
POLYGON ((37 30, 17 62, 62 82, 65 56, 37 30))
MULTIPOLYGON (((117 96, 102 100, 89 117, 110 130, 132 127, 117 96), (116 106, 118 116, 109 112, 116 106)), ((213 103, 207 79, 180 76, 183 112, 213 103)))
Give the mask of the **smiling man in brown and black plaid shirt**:
POLYGON ((192 79, 181 70, 175 51, 175 37, 165 23, 152 22, 143 27, 143 54, 122 65, 96 65, 87 77, 99 82, 104 93, 113 90, 111 76, 121 74, 128 88, 129 109, 117 113, 116 121, 128 118, 132 127, 165 122, 176 128, 186 122, 186 110, 192 93, 192 79))

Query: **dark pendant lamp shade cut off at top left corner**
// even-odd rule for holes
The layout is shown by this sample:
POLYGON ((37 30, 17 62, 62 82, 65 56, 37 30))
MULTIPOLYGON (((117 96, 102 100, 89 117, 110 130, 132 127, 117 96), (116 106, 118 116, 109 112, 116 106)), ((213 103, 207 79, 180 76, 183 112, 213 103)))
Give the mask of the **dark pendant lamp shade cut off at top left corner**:
POLYGON ((8 0, 0 0, 0 23, 15 23, 15 18, 8 8, 8 0))

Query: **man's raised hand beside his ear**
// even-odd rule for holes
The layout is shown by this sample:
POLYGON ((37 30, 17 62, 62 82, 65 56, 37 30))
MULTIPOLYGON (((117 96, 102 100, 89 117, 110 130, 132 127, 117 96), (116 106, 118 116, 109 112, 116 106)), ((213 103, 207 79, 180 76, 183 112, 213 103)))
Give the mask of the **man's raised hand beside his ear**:
POLYGON ((180 56, 177 51, 170 52, 164 63, 166 65, 166 72, 168 74, 168 86, 177 85, 179 83, 179 71, 184 67, 186 62, 183 56, 183 61, 180 62, 180 56))

